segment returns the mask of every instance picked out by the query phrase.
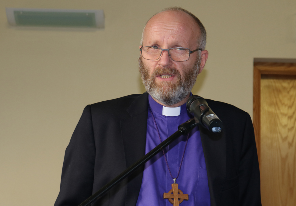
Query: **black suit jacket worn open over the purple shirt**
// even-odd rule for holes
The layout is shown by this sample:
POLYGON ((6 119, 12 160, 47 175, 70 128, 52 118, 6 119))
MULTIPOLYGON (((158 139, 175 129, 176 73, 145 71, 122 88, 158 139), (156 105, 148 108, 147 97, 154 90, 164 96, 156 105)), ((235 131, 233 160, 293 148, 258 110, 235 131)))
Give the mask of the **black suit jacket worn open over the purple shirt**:
MULTIPOLYGON (((218 135, 200 125, 211 206, 261 205, 250 115, 230 104, 207 102, 223 122, 218 135)), ((55 206, 79 205, 144 156, 147 115, 147 93, 86 106, 65 152, 55 206)), ((143 168, 113 187, 95 205, 135 206, 143 168)))

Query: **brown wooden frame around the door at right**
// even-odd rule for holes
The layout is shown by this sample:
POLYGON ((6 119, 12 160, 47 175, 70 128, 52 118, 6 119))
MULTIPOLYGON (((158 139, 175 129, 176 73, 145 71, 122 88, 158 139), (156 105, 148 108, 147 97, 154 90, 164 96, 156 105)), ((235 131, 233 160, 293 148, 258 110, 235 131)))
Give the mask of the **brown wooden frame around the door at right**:
POLYGON ((253 125, 260 165, 260 90, 262 74, 296 75, 296 59, 254 59, 253 125))

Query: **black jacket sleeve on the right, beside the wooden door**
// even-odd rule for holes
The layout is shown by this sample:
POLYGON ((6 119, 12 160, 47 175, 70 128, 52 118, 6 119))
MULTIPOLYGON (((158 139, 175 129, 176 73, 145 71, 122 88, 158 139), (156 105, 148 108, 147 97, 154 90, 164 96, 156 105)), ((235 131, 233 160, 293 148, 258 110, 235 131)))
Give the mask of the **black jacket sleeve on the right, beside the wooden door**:
POLYGON ((260 206, 260 172, 254 128, 250 115, 244 128, 239 162, 239 205, 260 206))

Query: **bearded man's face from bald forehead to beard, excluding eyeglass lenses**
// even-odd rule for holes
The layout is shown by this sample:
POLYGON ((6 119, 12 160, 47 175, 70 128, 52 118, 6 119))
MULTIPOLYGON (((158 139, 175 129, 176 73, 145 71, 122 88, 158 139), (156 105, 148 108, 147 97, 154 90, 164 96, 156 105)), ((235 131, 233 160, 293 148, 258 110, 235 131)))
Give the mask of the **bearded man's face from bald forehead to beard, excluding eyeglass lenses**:
MULTIPOLYGON (((198 48, 199 28, 192 17, 182 12, 161 12, 152 17, 145 28, 143 46, 162 49, 198 48)), ((148 93, 165 105, 182 101, 191 91, 199 73, 198 51, 185 62, 175 62, 168 51, 157 60, 139 58, 142 81, 148 93)))

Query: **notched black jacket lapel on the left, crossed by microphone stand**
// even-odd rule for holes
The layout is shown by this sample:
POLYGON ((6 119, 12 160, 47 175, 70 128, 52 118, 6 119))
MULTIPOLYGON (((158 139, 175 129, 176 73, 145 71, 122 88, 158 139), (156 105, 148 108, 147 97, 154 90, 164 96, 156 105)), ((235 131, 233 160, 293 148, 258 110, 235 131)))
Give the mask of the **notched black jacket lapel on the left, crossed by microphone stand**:
MULTIPOLYGON (((131 117, 120 122, 126 168, 145 155, 148 93, 145 92, 137 97, 128 107, 127 112, 131 117)), ((128 177, 126 206, 136 205, 142 184, 143 171, 144 165, 128 177)))

